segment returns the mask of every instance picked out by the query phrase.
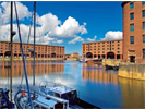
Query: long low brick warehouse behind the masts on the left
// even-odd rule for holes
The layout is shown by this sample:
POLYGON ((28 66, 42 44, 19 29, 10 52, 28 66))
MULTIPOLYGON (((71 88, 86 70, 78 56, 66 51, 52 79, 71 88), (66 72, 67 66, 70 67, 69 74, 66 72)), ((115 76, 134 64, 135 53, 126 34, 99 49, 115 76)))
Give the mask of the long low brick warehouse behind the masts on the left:
MULTIPOLYGON (((24 56, 32 58, 34 56, 33 49, 34 45, 22 44, 24 56), (27 51, 26 51, 27 49, 27 51), (27 53, 27 55, 26 55, 27 53)), ((20 43, 13 43, 13 57, 22 57, 20 43)), ((63 46, 50 46, 50 45, 35 45, 35 56, 36 58, 64 58, 65 48, 63 46)), ((0 57, 10 57, 11 49, 10 49, 10 41, 0 41, 0 57)))

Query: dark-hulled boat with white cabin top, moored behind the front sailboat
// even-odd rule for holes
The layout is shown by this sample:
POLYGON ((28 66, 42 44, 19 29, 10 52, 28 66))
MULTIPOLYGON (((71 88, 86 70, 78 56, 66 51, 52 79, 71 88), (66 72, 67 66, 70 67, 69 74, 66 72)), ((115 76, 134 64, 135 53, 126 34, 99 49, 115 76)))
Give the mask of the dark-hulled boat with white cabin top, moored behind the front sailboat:
POLYGON ((75 88, 71 88, 62 84, 41 81, 39 84, 39 93, 68 100, 69 108, 71 109, 100 109, 99 107, 80 99, 75 88))

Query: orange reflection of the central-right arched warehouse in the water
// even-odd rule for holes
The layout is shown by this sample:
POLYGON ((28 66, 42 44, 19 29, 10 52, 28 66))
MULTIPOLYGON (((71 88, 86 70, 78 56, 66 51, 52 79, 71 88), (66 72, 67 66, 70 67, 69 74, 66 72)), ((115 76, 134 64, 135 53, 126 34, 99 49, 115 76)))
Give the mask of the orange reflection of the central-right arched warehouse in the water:
POLYGON ((118 83, 118 74, 114 74, 113 71, 105 71, 97 68, 82 69, 82 78, 104 83, 118 83))

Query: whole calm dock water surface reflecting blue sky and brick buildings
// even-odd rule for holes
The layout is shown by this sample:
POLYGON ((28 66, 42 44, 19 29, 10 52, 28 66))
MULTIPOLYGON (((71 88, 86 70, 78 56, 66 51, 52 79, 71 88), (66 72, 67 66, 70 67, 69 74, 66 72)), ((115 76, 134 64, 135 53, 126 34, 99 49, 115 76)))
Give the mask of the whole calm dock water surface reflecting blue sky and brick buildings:
MULTIPOLYGON (((0 86, 10 84, 10 69, 0 63, 0 86)), ((101 64, 74 61, 36 61, 36 85, 41 81, 61 83, 78 90, 78 96, 102 109, 145 109, 145 81, 118 77, 101 64)), ((28 82, 33 84, 33 61, 26 61, 28 82)), ((23 62, 13 61, 13 89, 21 82, 23 62)), ((14 93, 14 90, 13 90, 14 93)))

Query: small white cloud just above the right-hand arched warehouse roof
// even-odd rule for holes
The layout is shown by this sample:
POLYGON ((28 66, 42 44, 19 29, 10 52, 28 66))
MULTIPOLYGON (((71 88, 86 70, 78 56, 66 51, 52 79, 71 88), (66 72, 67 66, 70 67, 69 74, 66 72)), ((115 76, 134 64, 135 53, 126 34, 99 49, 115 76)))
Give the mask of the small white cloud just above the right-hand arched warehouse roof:
POLYGON ((105 38, 101 38, 101 40, 111 40, 111 39, 122 39, 122 32, 117 31, 117 32, 112 32, 109 31, 106 33, 105 38))

